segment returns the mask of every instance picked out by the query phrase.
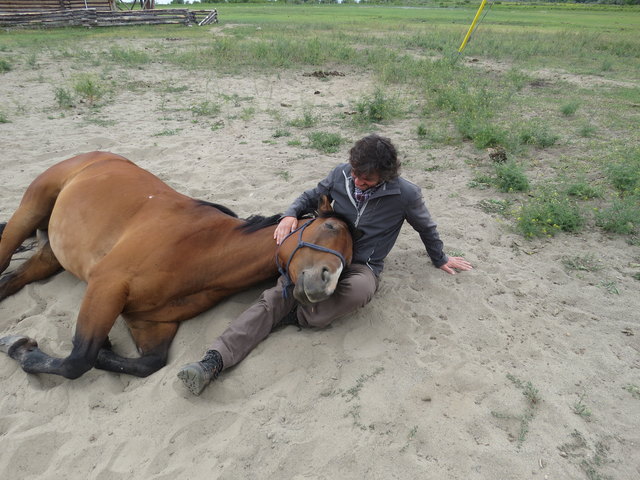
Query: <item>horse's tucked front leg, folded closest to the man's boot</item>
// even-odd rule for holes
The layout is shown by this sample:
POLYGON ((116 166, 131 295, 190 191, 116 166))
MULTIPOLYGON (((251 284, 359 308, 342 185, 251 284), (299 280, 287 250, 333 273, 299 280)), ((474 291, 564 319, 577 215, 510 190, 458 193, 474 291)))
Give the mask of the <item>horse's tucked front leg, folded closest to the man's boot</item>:
POLYGON ((167 364, 171 341, 178 331, 178 323, 129 322, 131 335, 138 346, 140 357, 125 358, 110 348, 98 353, 95 367, 111 372, 146 377, 167 364))

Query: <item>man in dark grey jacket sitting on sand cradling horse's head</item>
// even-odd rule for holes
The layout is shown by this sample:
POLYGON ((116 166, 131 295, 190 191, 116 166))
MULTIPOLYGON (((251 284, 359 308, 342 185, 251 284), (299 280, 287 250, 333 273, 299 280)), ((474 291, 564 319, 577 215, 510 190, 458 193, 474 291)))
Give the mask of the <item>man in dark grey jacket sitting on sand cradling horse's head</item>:
POLYGON ((298 226, 298 215, 313 210, 321 195, 333 209, 362 232, 354 243, 353 261, 345 268, 334 293, 311 306, 283 296, 283 277, 217 338, 199 362, 182 367, 178 377, 196 395, 218 374, 240 362, 274 327, 295 324, 322 328, 371 301, 378 289, 384 259, 407 220, 420 234, 431 262, 447 273, 471 270, 462 257, 447 257, 436 224, 424 204, 420 188, 399 176, 396 149, 388 138, 369 135, 356 142, 349 163, 334 168, 315 188, 300 195, 276 227, 278 245, 298 226))

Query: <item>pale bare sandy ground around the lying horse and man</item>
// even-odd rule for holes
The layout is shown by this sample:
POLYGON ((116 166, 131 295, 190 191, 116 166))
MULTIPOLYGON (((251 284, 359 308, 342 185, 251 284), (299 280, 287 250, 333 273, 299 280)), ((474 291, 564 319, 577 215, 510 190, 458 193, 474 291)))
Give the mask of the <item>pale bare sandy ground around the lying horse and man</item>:
MULTIPOLYGON (((335 120, 370 87, 357 72, 191 79, 150 65, 126 74, 141 88, 118 90, 98 113, 79 104, 61 115, 54 89, 69 75, 60 62, 41 56, 37 70, 2 75, 11 121, 0 124, 3 221, 45 168, 96 149, 242 217, 273 214, 349 148, 305 148, 307 131, 288 120, 307 108, 322 117, 316 130, 350 142, 363 133, 335 120), (188 90, 159 93, 182 85, 188 90), (191 114, 204 100, 222 105, 216 118, 191 114), (282 128, 292 136, 274 137, 282 128), (302 145, 288 145, 293 139, 302 145)), ((488 161, 486 152, 424 150, 410 120, 376 131, 394 140, 404 176, 424 188, 447 251, 473 271, 434 269, 407 227, 370 305, 322 331, 274 333, 200 397, 178 369, 268 284, 183 323, 167 366, 148 378, 95 369, 74 381, 29 375, 2 355, 0 477, 638 478, 638 247, 599 231, 525 241, 478 207, 495 192, 467 186, 466 162, 488 161), (433 165, 441 168, 425 169, 433 165), (589 253, 597 272, 562 264, 589 253), (534 404, 523 395, 528 382, 538 390, 534 404)), ((65 356, 84 291, 68 273, 29 285, 0 304, 0 335, 26 334, 65 356)), ((135 355, 123 323, 111 339, 135 355)))

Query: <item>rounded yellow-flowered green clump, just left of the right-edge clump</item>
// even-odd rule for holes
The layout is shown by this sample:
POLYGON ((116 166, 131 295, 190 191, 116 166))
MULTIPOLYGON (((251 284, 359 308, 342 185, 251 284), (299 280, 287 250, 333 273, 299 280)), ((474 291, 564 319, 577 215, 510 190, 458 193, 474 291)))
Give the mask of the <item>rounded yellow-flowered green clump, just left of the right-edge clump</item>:
POLYGON ((528 238, 578 232, 584 223, 578 205, 557 191, 544 191, 526 202, 516 217, 517 230, 528 238))

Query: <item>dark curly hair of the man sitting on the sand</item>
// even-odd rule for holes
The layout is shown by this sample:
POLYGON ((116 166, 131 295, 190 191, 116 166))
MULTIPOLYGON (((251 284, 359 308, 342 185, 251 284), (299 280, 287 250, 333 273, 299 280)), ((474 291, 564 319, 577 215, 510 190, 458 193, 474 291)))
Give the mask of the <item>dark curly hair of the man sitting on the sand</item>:
POLYGON ((400 162, 391 140, 377 134, 358 140, 349 150, 349 163, 356 176, 379 175, 381 182, 400 174, 400 162))

